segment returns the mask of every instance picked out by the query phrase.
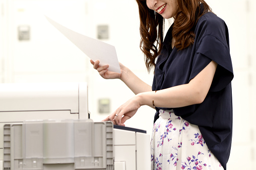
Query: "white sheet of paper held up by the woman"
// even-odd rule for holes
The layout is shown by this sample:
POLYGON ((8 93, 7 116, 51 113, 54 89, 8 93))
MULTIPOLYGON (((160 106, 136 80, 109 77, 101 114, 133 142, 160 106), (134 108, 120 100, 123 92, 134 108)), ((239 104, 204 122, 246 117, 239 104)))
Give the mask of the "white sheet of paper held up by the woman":
MULTIPOLYGON (((46 17, 46 16, 45 16, 46 17)), ((99 40, 74 32, 50 18, 46 19, 73 44, 82 50, 93 61, 99 60, 100 66, 109 65, 108 70, 120 73, 120 66, 117 59, 115 47, 99 40)))

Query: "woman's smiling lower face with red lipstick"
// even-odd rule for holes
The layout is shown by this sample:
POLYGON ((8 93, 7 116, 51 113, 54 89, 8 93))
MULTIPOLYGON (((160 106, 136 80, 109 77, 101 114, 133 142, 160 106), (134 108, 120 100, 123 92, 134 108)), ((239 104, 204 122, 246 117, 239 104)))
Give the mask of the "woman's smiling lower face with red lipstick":
POLYGON ((175 17, 178 13, 177 0, 147 0, 147 6, 165 19, 175 17))

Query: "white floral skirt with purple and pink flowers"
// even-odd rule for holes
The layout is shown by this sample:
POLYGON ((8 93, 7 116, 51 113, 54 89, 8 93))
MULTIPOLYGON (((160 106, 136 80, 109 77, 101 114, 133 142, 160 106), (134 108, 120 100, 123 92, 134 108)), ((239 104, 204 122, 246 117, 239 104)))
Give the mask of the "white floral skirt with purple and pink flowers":
POLYGON ((151 169, 224 168, 207 147, 197 125, 160 110, 151 139, 151 169))

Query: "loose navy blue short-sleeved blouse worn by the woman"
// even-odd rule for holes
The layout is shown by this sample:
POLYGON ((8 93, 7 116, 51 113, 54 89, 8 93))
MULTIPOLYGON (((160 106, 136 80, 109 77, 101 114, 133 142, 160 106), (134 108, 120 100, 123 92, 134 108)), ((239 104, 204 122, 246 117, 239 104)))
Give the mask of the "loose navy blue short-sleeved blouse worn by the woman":
POLYGON ((177 51, 175 47, 171 48, 170 27, 156 62, 152 90, 187 84, 211 61, 215 61, 218 66, 210 90, 201 104, 156 108, 154 121, 159 117, 159 109, 173 109, 175 115, 198 125, 207 146, 226 169, 232 138, 233 79, 228 29, 223 20, 210 12, 199 19, 194 29, 195 43, 177 51))

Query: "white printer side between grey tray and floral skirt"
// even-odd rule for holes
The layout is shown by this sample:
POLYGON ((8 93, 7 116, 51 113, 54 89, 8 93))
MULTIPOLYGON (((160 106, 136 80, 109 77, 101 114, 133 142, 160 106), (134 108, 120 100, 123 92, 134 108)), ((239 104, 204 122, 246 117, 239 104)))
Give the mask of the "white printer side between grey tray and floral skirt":
POLYGON ((149 134, 121 129, 114 129, 113 132, 115 162, 125 161, 126 170, 151 168, 149 134))

